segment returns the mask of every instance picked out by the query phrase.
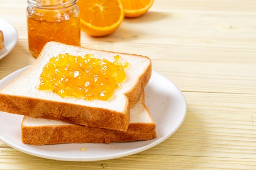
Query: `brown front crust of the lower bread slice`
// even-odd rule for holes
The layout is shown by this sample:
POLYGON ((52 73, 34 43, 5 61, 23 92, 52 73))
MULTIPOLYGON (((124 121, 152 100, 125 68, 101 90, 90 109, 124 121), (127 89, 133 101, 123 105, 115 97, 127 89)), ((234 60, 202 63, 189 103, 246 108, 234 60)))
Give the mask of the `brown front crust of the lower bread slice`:
POLYGON ((130 124, 126 132, 82 125, 22 126, 22 142, 31 145, 110 143, 150 140, 157 137, 155 124, 130 124))

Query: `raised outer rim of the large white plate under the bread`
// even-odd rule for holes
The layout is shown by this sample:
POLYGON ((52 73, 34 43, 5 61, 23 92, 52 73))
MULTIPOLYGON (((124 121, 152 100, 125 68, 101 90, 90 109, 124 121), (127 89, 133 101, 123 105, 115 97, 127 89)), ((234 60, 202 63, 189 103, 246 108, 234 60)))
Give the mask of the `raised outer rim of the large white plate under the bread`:
MULTIPOLYGON (((6 81, 10 76, 13 76, 13 75, 15 75, 17 73, 19 75, 22 74, 22 72, 25 72, 25 70, 27 70, 27 68, 29 68, 29 66, 30 65, 28 65, 28 66, 26 66, 24 68, 20 68, 19 70, 16 70, 15 72, 9 74, 8 76, 2 78, 2 80, 0 80, 0 83, 6 81)), ((7 144, 8 146, 11 146, 12 148, 14 148, 16 150, 19 150, 19 151, 21 151, 23 153, 27 153, 29 155, 34 155, 34 156, 42 157, 42 158, 46 158, 46 159, 59 160, 59 161, 102 161, 102 160, 108 160, 108 159, 115 159, 115 158, 125 157, 125 156, 128 156, 128 155, 136 154, 136 153, 142 152, 144 150, 147 150, 149 148, 152 148, 152 147, 154 147, 154 146, 164 142, 168 137, 173 135, 180 128, 180 126, 184 122, 184 119, 186 118, 186 110, 187 110, 186 98, 184 97, 184 94, 182 93, 182 91, 177 87, 177 85, 175 85, 175 83, 173 83, 171 80, 169 80, 168 78, 166 78, 165 76, 163 76, 162 74, 160 74, 160 73, 158 73, 158 72, 156 72, 154 70, 152 70, 152 74, 156 74, 157 76, 161 76, 162 78, 165 78, 167 81, 169 81, 176 88, 176 90, 179 90, 179 93, 180 93, 180 95, 182 97, 182 100, 184 102, 183 103, 183 105, 184 105, 184 113, 182 114, 183 115, 182 120, 180 120, 180 123, 179 123, 178 126, 176 126, 175 130, 173 130, 171 133, 169 133, 168 135, 165 135, 163 137, 160 137, 160 138, 157 137, 158 139, 155 138, 155 140, 154 139, 148 140, 148 141, 152 141, 149 144, 146 144, 144 146, 140 146, 140 147, 132 149, 132 150, 128 150, 126 152, 115 153, 115 154, 110 154, 110 155, 94 156, 94 157, 90 157, 90 158, 83 158, 83 157, 81 157, 81 158, 74 158, 74 157, 70 158, 70 157, 59 157, 59 155, 57 157, 55 155, 50 155, 49 153, 47 153, 47 154, 43 153, 42 154, 42 153, 35 152, 34 150, 28 150, 27 148, 20 148, 20 147, 18 147, 16 145, 12 144, 11 142, 7 141, 6 139, 4 139, 2 137, 1 133, 0 133, 0 139, 5 144, 7 144)), ((0 113, 5 113, 5 112, 1 112, 0 111, 0 113)), ((11 115, 14 115, 14 114, 11 114, 11 115)), ((21 115, 14 115, 14 116, 21 116, 21 115)), ((139 141, 139 142, 143 142, 143 141, 139 141)), ((46 147, 47 147, 47 145, 46 145, 46 147)))

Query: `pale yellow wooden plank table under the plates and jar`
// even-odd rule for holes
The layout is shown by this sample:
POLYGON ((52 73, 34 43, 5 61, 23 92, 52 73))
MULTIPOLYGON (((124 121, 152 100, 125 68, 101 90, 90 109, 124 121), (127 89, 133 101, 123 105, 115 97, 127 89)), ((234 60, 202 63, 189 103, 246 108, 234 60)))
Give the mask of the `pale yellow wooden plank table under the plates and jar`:
MULTIPOLYGON (((0 60, 0 79, 34 62, 25 0, 0 0, 19 39, 0 60)), ((187 101, 182 126, 141 153, 91 162, 43 159, 0 141, 0 169, 256 169, 256 1, 155 0, 115 33, 81 34, 88 48, 142 54, 187 101)))

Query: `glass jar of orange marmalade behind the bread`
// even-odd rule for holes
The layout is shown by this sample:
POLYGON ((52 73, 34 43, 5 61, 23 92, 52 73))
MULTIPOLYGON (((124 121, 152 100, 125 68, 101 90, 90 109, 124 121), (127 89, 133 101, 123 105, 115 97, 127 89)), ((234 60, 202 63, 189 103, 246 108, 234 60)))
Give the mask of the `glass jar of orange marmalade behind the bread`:
POLYGON ((77 0, 28 0, 27 32, 31 54, 37 58, 49 41, 80 46, 77 0))

